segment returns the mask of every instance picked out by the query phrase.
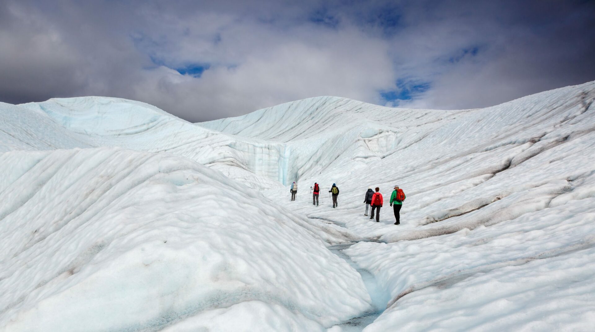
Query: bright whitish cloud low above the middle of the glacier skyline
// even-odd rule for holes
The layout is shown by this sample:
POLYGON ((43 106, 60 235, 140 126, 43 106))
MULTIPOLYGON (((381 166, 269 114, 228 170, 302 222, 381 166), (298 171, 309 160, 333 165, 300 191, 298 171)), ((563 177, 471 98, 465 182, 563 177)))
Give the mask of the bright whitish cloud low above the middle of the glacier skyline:
MULTIPOLYGON (((258 31, 245 30, 245 40, 260 36, 258 31)), ((165 75, 167 69, 156 69, 155 76, 162 79, 158 84, 145 80, 149 86, 140 89, 148 93, 143 98, 159 106, 162 96, 170 96, 170 103, 180 100, 187 109, 206 110, 203 117, 221 118, 312 96, 374 100, 377 91, 395 79, 386 45, 353 31, 322 32, 314 42, 293 36, 245 54, 241 65, 215 66, 200 78, 174 71, 165 75), (160 93, 151 96, 156 90, 160 93)))

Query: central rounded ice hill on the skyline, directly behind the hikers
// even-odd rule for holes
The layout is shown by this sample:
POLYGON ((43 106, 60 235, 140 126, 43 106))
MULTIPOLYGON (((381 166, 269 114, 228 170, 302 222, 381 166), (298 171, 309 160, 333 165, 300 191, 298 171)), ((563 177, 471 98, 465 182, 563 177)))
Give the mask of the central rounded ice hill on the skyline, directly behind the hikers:
MULTIPOLYGON (((449 121, 465 111, 393 109, 340 97, 315 97, 257 110, 237 118, 203 122, 205 128, 245 138, 282 142, 287 179, 348 178, 365 172, 397 146, 418 139, 402 137, 402 124, 421 127, 449 121)), ((359 175, 361 176, 361 175, 359 175)))

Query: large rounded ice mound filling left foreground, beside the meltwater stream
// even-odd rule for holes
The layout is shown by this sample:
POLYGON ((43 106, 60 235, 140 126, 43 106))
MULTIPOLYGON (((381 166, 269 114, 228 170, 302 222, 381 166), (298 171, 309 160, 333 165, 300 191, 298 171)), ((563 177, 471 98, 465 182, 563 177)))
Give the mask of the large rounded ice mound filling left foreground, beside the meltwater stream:
POLYGON ((324 331, 371 305, 342 232, 192 160, 11 151, 0 174, 0 331, 324 331))

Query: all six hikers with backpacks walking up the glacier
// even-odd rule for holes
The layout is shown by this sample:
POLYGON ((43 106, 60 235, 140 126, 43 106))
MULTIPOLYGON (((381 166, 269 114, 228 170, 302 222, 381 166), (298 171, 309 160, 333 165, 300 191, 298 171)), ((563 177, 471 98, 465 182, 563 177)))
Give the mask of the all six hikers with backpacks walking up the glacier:
MULTIPOLYGON (((310 187, 312 191, 312 204, 318 205, 318 197, 320 196, 320 186, 318 183, 314 183, 314 186, 310 187)), ((290 189, 292 193, 292 201, 296 200, 297 194, 297 184, 293 182, 292 187, 290 189)), ((336 184, 331 186, 331 189, 328 191, 331 193, 333 197, 333 208, 339 206, 339 187, 336 184)), ((393 207, 394 212, 394 225, 400 225, 400 210, 403 206, 403 201, 405 201, 405 192, 403 189, 400 189, 399 186, 395 185, 393 193, 390 195, 390 206, 393 207)), ((366 210, 364 216, 368 216, 368 210, 370 211, 370 219, 374 219, 374 213, 376 214, 376 222, 380 222, 380 208, 384 204, 384 200, 382 194, 380 194, 380 188, 376 187, 372 190, 372 187, 368 187, 368 191, 366 192, 364 198, 364 204, 366 204, 366 210)))

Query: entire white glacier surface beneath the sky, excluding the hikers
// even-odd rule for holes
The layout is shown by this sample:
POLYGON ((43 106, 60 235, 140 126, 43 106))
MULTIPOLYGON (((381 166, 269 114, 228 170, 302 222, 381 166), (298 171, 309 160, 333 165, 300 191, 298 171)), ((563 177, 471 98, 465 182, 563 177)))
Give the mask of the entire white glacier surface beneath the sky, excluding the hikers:
POLYGON ((592 331, 593 100, 0 103, 0 331, 592 331))

